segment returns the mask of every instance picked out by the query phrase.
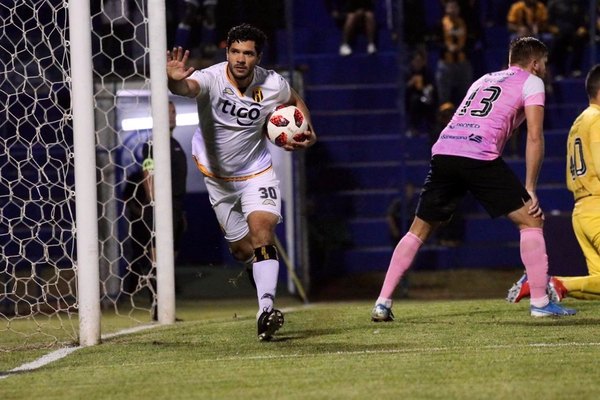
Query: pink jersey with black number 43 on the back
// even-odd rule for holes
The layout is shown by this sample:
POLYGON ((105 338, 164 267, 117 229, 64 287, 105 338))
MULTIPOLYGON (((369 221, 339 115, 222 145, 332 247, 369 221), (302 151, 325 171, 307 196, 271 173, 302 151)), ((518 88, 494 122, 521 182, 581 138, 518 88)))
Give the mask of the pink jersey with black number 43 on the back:
POLYGON ((432 155, 493 160, 525 120, 525 106, 544 106, 544 82, 519 67, 486 74, 469 88, 432 155))

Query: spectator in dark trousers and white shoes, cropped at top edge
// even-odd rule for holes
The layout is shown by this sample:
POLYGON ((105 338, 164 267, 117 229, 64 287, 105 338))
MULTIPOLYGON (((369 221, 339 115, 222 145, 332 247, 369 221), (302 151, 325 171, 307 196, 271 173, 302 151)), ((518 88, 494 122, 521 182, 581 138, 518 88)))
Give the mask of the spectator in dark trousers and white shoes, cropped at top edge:
POLYGON ((375 1, 374 0, 348 0, 346 1, 346 21, 342 32, 342 44, 340 45, 340 55, 349 56, 352 54, 350 43, 358 28, 364 26, 367 36, 367 54, 377 52, 375 46, 375 33, 377 22, 375 21, 375 1))

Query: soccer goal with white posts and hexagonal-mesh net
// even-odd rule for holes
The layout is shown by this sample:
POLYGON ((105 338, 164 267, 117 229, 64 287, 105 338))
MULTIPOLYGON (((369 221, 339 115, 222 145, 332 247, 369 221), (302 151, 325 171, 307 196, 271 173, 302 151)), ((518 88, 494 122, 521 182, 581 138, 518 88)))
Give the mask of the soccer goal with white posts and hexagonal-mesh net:
POLYGON ((164 0, 2 2, 0 19, 0 352, 94 345, 104 313, 173 323, 164 0), (121 104, 131 88, 150 98, 121 104), (132 107, 151 132, 124 135, 132 107), (146 142, 156 259, 127 198, 146 142))

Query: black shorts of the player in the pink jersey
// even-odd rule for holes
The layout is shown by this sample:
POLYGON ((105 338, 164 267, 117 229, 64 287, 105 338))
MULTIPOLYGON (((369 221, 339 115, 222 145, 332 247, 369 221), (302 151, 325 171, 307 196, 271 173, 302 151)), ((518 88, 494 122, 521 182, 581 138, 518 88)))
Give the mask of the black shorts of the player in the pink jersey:
POLYGON ((447 221, 467 192, 492 218, 518 210, 531 199, 502 158, 484 161, 436 155, 431 159, 416 215, 425 221, 447 221))

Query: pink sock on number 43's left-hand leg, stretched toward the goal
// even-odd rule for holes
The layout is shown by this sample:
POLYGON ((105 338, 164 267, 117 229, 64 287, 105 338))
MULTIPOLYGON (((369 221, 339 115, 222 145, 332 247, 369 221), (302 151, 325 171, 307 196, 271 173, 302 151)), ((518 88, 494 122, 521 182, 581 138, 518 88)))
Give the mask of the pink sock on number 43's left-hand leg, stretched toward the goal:
POLYGON ((396 289, 396 286, 398 286, 402 275, 410 268, 417 251, 419 251, 419 248, 422 245, 423 242, 421 239, 410 232, 404 235, 400 240, 394 249, 394 254, 392 254, 390 266, 388 267, 388 272, 385 275, 383 287, 379 294, 380 298, 391 300, 392 294, 394 294, 394 290, 396 289))

